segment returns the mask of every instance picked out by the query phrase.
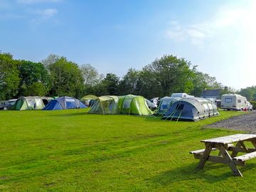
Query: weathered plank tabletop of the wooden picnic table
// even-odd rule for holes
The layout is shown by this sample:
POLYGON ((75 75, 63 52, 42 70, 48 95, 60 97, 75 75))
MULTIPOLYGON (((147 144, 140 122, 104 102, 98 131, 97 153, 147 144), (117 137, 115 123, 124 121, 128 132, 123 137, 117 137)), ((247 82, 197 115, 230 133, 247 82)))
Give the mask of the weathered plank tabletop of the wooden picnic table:
POLYGON ((213 139, 201 140, 204 143, 214 143, 214 144, 230 144, 233 142, 245 141, 248 139, 256 138, 256 134, 233 134, 225 137, 217 137, 213 139))

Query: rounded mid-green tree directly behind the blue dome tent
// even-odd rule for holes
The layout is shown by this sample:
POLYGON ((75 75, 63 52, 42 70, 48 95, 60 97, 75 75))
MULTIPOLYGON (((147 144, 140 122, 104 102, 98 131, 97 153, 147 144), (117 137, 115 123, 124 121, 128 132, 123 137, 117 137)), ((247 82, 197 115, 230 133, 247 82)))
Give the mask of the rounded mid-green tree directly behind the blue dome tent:
POLYGON ((55 63, 48 65, 52 80, 51 95, 71 97, 82 96, 82 73, 76 63, 61 57, 55 63))

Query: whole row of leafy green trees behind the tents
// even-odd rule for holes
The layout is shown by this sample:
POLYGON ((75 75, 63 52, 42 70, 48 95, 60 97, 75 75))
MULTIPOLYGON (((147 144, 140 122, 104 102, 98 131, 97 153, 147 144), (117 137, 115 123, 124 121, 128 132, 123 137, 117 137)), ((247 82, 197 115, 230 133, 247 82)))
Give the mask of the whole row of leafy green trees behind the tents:
POLYGON ((142 95, 146 98, 187 92, 200 96, 205 89, 222 88, 214 77, 197 70, 185 58, 163 55, 142 70, 130 68, 122 77, 102 75, 90 64, 78 65, 63 56, 49 55, 39 63, 15 60, 0 53, 0 100, 19 96, 142 95))

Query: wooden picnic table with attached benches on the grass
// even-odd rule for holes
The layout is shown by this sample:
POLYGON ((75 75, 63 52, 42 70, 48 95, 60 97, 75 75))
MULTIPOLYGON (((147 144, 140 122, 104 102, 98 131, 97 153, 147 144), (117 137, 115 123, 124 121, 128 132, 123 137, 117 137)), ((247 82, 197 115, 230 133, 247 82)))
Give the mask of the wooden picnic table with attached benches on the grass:
POLYGON ((200 159, 198 169, 203 169, 206 161, 228 164, 234 176, 242 176, 237 166, 245 166, 245 161, 256 157, 256 134, 233 134, 225 137, 202 140, 206 149, 191 151, 196 159, 200 159), (254 148, 245 146, 248 142, 254 148), (234 145, 235 144, 235 145, 234 145), (217 155, 210 155, 211 151, 218 150, 217 155), (228 151, 231 151, 229 154, 228 151), (237 156, 239 152, 245 153, 237 156))

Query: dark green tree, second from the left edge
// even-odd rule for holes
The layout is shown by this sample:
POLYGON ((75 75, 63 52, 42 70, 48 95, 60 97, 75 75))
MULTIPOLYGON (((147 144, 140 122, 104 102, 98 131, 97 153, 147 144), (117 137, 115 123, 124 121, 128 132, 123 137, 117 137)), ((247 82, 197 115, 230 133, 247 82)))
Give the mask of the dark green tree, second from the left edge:
POLYGON ((31 90, 29 89, 31 89, 34 82, 38 82, 35 85, 43 86, 44 94, 50 90, 50 75, 42 63, 19 60, 18 70, 20 71, 19 74, 21 78, 19 95, 30 95, 31 90))

